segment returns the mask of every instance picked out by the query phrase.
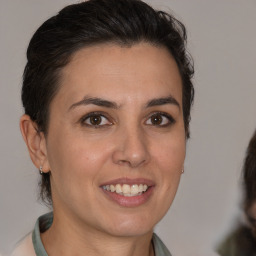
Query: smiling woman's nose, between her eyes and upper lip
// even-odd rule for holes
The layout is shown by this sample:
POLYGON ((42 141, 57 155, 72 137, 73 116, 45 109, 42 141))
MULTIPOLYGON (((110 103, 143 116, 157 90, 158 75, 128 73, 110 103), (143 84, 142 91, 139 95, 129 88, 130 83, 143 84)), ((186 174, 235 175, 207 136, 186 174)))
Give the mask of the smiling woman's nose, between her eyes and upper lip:
POLYGON ((149 161, 148 141, 139 128, 126 127, 116 138, 113 162, 130 168, 140 167, 149 161))

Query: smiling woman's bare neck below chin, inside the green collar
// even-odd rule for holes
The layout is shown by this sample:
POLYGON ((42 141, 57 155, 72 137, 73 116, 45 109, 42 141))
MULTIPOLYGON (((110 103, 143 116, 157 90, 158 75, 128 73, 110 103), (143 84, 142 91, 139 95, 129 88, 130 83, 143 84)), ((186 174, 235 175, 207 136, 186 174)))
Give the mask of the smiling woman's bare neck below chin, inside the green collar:
POLYGON ((52 226, 41 234, 41 239, 49 256, 154 256, 152 233, 120 237, 81 223, 76 225, 71 218, 63 221, 63 216, 54 216, 52 226))

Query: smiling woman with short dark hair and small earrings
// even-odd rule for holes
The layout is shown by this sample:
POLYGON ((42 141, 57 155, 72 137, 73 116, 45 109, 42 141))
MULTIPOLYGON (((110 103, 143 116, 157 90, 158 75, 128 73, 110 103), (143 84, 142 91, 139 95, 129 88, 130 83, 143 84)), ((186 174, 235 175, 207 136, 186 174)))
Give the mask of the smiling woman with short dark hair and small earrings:
POLYGON ((183 172, 185 46, 179 21, 138 0, 70 5, 36 31, 20 127, 53 212, 14 255, 170 255, 153 229, 183 172))

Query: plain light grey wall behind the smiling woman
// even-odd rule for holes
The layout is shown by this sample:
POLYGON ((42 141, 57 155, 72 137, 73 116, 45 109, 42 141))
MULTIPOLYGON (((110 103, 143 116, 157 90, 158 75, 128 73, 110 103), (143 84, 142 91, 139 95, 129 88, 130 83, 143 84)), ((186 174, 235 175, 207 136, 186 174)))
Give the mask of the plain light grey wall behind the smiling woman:
MULTIPOLYGON (((28 42, 71 0, 0 0, 0 251, 7 253, 47 208, 37 203, 38 171, 19 131, 28 42)), ((196 98, 185 174, 157 232, 174 255, 214 255, 239 218, 240 171, 256 128, 256 1, 148 0, 188 29, 196 98)))

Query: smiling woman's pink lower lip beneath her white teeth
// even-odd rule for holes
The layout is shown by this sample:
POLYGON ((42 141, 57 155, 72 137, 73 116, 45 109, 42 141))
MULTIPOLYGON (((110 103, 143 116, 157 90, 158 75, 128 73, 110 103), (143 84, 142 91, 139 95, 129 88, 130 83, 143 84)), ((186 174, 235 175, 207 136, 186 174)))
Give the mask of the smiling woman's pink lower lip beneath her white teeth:
POLYGON ((104 189, 102 190, 112 201, 116 202, 120 206, 136 207, 145 204, 149 200, 153 193, 154 186, 149 187, 147 191, 142 193, 141 195, 131 197, 119 195, 115 192, 110 192, 104 189))

